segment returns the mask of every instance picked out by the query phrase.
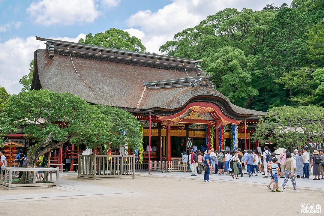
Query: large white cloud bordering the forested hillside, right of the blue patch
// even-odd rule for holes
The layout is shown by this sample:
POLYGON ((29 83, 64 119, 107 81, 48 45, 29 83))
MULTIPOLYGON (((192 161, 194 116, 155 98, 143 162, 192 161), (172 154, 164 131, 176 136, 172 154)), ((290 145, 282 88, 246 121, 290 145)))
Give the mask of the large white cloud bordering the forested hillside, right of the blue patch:
MULTIPOLYGON (((164 6, 156 12, 151 10, 138 11, 130 16, 126 23, 133 32, 140 30, 145 33, 142 43, 148 52, 159 52, 159 48, 173 36, 190 27, 194 27, 209 15, 225 8, 252 8, 261 10, 266 4, 281 6, 290 5, 290 0, 173 0, 173 3, 164 6)), ((127 30, 127 29, 125 29, 127 30)))

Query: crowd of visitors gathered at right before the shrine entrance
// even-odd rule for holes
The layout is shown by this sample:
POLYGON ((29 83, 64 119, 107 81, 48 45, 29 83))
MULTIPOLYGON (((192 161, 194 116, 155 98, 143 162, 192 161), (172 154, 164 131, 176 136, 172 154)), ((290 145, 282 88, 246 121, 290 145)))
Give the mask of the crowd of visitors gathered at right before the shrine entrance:
MULTIPOLYGON (((203 149, 203 148, 200 148, 203 149)), ((236 151, 222 150, 218 152, 215 149, 205 150, 202 152, 197 148, 191 149, 190 155, 183 152, 181 162, 184 167, 184 173, 187 172, 188 166, 191 169, 191 176, 197 176, 204 173, 204 181, 212 182, 210 175, 218 174, 230 175, 234 179, 247 174, 251 176, 263 176, 263 178, 271 178, 267 187, 272 192, 285 192, 285 186, 289 179, 294 187, 295 192, 299 192, 296 188, 296 178, 309 179, 309 153, 307 148, 303 150, 295 150, 294 153, 287 152, 285 149, 282 153, 272 153, 265 146, 264 152, 255 150, 244 150, 244 154, 240 148, 236 151), (245 167, 245 173, 242 167, 245 167), (263 171, 263 174, 262 174, 263 171), (282 189, 278 187, 278 178, 284 178, 282 189), (271 188, 272 185, 272 188, 271 188)), ((311 167, 314 176, 313 180, 324 180, 324 150, 315 150, 311 157, 311 167), (320 178, 320 176, 322 176, 320 178)))

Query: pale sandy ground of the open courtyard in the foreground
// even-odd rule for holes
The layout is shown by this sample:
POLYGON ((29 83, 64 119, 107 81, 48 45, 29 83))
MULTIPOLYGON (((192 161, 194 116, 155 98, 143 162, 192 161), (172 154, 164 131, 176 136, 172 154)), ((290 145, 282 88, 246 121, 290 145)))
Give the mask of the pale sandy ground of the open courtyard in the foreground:
MULTIPOLYGON (((319 189, 300 188, 301 192, 295 193, 287 187, 286 193, 270 192, 264 184, 240 183, 239 180, 205 183, 202 179, 176 176, 137 175, 135 179, 90 180, 67 175, 61 178, 133 193, 73 199, 25 199, 3 203, 0 215, 302 215, 301 203, 320 204, 321 214, 324 212, 324 192, 319 189)), ((56 190, 1 189, 0 192, 10 195, 56 190)))

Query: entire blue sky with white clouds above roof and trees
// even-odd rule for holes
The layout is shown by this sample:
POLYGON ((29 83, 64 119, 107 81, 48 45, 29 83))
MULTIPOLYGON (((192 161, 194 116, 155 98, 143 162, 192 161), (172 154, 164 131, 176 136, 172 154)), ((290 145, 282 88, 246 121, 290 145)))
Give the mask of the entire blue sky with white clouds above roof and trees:
POLYGON ((10 94, 21 90, 34 51, 44 49, 35 36, 77 42, 88 33, 126 30, 146 51, 225 8, 261 10, 290 0, 0 0, 0 85, 10 94))

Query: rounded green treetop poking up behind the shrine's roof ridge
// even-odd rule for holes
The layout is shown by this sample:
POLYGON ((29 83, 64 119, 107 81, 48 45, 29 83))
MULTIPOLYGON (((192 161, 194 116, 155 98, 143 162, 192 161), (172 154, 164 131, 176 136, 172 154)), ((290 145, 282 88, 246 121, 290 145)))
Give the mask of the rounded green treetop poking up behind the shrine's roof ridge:
POLYGON ((81 38, 79 43, 139 52, 146 50, 140 39, 131 37, 127 31, 118 28, 110 28, 105 33, 99 32, 95 36, 87 34, 86 39, 81 38))

